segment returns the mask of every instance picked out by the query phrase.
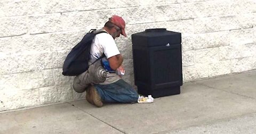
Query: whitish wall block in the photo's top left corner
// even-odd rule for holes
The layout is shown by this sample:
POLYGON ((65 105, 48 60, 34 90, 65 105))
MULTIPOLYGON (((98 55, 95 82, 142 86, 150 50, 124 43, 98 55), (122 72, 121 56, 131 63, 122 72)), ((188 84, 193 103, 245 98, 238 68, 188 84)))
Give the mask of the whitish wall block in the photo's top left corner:
POLYGON ((43 13, 41 2, 35 0, 3 1, 0 5, 0 17, 43 13))

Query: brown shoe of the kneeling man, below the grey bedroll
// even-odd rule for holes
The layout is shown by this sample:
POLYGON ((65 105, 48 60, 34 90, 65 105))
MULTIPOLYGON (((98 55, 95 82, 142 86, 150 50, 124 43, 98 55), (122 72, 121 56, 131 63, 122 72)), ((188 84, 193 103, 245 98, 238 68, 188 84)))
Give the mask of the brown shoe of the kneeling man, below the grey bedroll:
POLYGON ((97 106, 102 107, 103 103, 101 101, 100 95, 98 94, 97 90, 94 88, 94 86, 89 86, 86 90, 86 100, 97 106))

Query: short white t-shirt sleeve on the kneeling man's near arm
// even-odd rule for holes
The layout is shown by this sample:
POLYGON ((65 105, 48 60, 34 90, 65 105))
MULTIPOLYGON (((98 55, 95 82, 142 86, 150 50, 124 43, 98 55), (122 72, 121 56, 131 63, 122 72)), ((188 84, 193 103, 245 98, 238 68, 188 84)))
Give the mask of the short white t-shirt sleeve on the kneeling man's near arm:
POLYGON ((109 34, 102 34, 103 38, 99 40, 107 58, 120 54, 115 40, 109 34))

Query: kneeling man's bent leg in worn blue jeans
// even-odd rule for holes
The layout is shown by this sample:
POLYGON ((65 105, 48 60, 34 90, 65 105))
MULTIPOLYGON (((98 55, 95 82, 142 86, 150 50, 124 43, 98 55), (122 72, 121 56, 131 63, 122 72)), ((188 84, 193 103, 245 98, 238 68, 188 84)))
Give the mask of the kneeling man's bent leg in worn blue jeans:
POLYGON ((129 83, 120 79, 108 85, 94 85, 103 102, 135 103, 139 95, 129 83))

